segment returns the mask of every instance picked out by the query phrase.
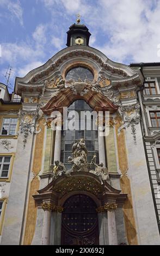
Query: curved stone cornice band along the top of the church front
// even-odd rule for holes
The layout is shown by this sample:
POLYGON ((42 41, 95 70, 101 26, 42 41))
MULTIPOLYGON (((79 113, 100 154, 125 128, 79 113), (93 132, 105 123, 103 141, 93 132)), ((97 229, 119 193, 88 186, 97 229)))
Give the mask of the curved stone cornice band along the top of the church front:
MULTIPOLYGON (((60 73, 60 66, 64 65, 67 60, 84 60, 89 61, 92 60, 93 63, 96 63, 96 66, 99 66, 99 69, 106 70, 109 76, 119 77, 125 79, 127 77, 140 77, 140 70, 137 68, 136 70, 132 70, 129 66, 112 62, 112 60, 107 59, 107 57, 101 53, 100 51, 87 47, 81 46, 81 49, 78 46, 72 46, 69 48, 65 48, 61 50, 56 55, 54 55, 47 63, 30 71, 23 78, 16 78, 15 90, 17 90, 18 84, 21 82, 24 83, 40 83, 45 81, 48 77, 50 77, 50 73, 60 73)), ((60 74, 59 74, 60 75, 60 74)))

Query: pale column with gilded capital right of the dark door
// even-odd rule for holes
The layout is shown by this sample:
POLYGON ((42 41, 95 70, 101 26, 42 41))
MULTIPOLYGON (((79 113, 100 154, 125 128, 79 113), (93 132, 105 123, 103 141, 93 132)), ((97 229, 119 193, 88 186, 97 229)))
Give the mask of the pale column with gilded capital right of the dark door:
POLYGON ((117 233, 116 233, 116 223, 115 223, 115 209, 117 205, 107 203, 104 204, 104 209, 107 210, 108 217, 108 240, 109 245, 118 245, 117 233))

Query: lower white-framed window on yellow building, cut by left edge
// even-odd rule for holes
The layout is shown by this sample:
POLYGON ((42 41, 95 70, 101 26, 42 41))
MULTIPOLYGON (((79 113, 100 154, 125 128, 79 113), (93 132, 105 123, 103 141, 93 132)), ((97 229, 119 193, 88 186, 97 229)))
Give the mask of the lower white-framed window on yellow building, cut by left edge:
POLYGON ((0 156, 0 178, 8 178, 11 156, 0 156))

